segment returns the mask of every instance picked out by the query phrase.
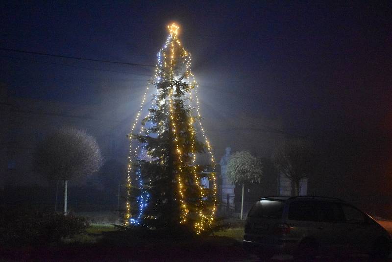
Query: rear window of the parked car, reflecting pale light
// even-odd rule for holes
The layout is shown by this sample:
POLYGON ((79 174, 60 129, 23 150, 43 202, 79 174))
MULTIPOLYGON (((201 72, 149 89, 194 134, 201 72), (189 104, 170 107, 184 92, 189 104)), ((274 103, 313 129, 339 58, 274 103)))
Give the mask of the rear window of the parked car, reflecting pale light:
POLYGON ((284 205, 285 202, 281 200, 259 200, 250 209, 248 216, 280 218, 284 205))

